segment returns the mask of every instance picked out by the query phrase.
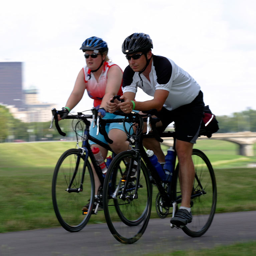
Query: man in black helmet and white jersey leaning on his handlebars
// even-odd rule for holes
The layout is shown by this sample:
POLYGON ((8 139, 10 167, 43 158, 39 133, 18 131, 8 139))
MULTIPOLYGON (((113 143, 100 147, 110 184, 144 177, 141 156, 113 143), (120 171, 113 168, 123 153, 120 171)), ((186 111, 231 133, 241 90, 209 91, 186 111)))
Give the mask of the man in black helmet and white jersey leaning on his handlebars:
MULTIPOLYGON (((153 55, 152 48, 150 36, 144 33, 134 33, 124 40, 122 52, 129 62, 123 72, 121 98, 124 102, 117 104, 107 101, 107 109, 110 113, 117 109, 130 113, 133 109, 143 112, 156 108, 156 116, 162 125, 158 128, 160 132, 175 122, 182 202, 171 223, 184 226, 192 221, 190 197, 195 169, 191 156, 203 117, 203 93, 199 84, 186 71, 171 59, 153 55), (137 87, 154 98, 134 101, 137 87)), ((144 146, 154 151, 159 162, 165 161, 160 144, 155 139, 144 140, 144 146)))

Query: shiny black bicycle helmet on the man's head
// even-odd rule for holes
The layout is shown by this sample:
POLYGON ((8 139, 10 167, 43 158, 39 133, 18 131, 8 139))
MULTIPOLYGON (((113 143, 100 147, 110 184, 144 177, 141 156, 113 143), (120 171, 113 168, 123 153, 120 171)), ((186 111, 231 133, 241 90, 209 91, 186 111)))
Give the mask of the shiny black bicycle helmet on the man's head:
POLYGON ((123 54, 132 54, 136 52, 148 52, 153 48, 153 43, 149 35, 145 33, 133 33, 125 38, 122 44, 123 54))

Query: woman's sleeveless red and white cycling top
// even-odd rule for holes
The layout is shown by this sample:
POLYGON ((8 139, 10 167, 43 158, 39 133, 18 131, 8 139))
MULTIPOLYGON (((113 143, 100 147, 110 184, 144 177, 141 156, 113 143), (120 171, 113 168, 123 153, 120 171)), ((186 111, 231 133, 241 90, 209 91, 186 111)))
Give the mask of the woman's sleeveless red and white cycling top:
MULTIPOLYGON (((94 99, 93 106, 95 108, 99 108, 101 100, 105 95, 106 85, 107 85, 107 72, 111 66, 114 66, 113 62, 105 61, 103 63, 103 69, 99 76, 98 81, 95 79, 94 74, 87 67, 83 67, 84 73, 84 81, 86 83, 86 90, 90 98, 94 99)), ((119 67, 119 66, 118 66, 119 67)), ((121 68, 120 68, 121 69, 121 68)), ((118 90, 117 95, 122 95, 122 83, 120 84, 120 88, 118 90)))

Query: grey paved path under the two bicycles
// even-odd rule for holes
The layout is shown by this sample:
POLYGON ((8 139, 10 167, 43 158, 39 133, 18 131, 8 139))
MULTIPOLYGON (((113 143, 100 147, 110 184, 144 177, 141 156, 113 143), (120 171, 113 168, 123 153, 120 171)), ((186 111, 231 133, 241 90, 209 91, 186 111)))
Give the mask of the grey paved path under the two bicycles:
POLYGON ((106 224, 87 225, 77 233, 63 228, 1 233, 0 255, 154 255, 256 240, 256 211, 215 214, 209 230, 198 238, 171 229, 169 221, 170 218, 151 219, 142 238, 131 245, 117 242, 106 224))

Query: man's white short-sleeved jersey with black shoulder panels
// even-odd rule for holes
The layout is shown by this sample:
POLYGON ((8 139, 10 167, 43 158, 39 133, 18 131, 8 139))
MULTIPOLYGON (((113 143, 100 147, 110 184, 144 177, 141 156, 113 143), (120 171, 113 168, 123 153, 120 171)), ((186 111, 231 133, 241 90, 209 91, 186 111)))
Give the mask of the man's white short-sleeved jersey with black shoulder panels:
POLYGON ((123 72, 122 91, 137 92, 141 88, 150 96, 158 89, 169 91, 164 107, 169 110, 191 103, 200 91, 199 84, 171 59, 153 55, 150 80, 127 66, 123 72), (142 80, 141 80, 142 79, 142 80))

